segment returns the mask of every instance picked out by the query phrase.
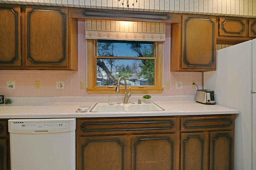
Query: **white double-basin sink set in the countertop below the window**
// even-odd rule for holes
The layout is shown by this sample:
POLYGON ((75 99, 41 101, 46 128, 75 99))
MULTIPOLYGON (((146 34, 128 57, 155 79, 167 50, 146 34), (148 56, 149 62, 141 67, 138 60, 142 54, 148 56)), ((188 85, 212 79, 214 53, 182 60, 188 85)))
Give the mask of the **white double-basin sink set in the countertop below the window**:
POLYGON ((154 102, 149 104, 134 103, 96 103, 90 110, 91 112, 131 112, 131 111, 163 111, 164 109, 156 105, 154 102))

